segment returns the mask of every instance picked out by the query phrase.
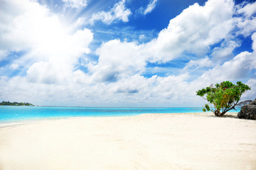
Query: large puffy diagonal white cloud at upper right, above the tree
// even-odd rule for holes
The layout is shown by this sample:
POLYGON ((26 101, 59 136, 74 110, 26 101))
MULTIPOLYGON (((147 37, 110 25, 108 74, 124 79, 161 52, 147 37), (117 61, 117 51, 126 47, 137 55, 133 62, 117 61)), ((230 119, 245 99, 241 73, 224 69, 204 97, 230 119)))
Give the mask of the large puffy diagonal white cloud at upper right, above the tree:
POLYGON ((194 4, 171 19, 168 28, 149 42, 145 54, 150 62, 168 62, 183 52, 204 56, 209 46, 225 38, 233 29, 233 1, 194 4))

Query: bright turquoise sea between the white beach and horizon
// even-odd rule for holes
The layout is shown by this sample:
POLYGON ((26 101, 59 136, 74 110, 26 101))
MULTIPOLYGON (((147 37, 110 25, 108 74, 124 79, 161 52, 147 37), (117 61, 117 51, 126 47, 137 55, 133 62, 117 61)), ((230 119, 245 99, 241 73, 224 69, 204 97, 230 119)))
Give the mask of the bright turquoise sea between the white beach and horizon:
MULTIPOLYGON (((80 108, 0 106, 0 123, 84 116, 132 116, 143 113, 199 113, 202 108, 80 108)), ((233 111, 238 112, 238 111, 233 111)))

